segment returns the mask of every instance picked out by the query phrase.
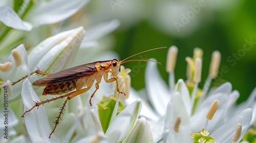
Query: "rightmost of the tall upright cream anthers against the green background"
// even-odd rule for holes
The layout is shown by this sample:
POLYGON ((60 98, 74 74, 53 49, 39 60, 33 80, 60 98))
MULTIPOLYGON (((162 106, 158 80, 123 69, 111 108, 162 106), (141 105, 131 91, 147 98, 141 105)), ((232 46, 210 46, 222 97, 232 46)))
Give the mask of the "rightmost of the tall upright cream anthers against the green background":
POLYGON ((215 51, 211 55, 211 62, 210 62, 210 69, 209 69, 209 76, 214 79, 216 78, 220 66, 221 61, 221 54, 219 51, 215 51))

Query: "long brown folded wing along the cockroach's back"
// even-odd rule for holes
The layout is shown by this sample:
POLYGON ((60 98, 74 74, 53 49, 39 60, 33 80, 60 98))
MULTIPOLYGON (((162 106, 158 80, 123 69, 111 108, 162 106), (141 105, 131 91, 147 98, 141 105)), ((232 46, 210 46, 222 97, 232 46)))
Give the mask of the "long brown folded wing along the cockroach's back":
POLYGON ((75 80, 83 77, 88 77, 97 72, 94 63, 88 63, 83 65, 78 65, 72 68, 61 70, 58 73, 52 74, 50 76, 41 78, 35 82, 35 86, 50 86, 59 83, 67 82, 70 80, 75 80))

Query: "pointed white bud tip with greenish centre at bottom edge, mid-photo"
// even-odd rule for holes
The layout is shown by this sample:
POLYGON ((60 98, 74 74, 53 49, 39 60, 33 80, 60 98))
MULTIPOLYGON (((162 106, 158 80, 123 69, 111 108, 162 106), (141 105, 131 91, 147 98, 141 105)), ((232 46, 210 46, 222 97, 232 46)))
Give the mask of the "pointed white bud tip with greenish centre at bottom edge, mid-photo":
POLYGON ((150 125, 144 117, 137 120, 122 142, 154 142, 150 125))

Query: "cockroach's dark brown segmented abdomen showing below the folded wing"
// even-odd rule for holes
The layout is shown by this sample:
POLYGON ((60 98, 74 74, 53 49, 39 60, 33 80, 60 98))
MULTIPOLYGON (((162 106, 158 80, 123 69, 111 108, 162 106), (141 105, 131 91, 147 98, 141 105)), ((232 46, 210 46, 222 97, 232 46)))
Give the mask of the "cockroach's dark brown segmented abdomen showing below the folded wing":
POLYGON ((75 87, 76 87, 76 81, 74 80, 63 82, 60 84, 45 87, 44 91, 42 92, 42 95, 46 96, 47 94, 56 95, 61 93, 67 93, 74 90, 75 87))

